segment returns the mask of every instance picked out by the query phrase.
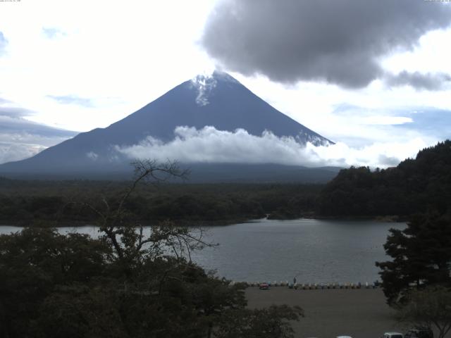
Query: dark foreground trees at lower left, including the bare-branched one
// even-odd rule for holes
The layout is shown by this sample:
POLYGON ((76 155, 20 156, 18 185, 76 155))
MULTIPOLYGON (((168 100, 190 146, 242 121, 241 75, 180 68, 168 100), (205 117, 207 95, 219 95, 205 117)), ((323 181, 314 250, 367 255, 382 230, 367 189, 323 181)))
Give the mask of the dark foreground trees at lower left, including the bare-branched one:
POLYGON ((247 310, 245 285, 191 261, 209 245, 201 230, 135 223, 127 201, 137 184, 185 175, 174 163, 135 167, 117 204, 84 204, 98 215, 99 239, 51 228, 0 236, 1 337, 214 337, 241 314, 249 322, 235 337, 292 337, 299 310, 247 310))

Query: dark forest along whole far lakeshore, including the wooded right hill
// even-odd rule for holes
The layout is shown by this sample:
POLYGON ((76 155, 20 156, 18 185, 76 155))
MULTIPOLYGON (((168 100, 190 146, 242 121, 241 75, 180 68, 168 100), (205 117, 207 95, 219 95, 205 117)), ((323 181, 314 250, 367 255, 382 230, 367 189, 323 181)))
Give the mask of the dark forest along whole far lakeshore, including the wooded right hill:
MULTIPOLYGON (((17 225, 87 223, 101 207, 118 203, 127 181, 9 180, 0 177, 0 222, 17 225)), ((227 224, 268 215, 366 217, 404 220, 431 208, 451 210, 451 141, 419 151, 395 168, 341 170, 328 184, 144 184, 127 201, 135 220, 227 224)))

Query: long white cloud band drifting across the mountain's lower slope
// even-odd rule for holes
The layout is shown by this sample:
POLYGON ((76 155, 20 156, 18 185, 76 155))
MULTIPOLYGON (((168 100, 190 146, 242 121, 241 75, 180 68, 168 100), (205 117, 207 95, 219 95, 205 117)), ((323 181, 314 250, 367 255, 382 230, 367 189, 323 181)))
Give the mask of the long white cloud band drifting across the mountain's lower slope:
POLYGON ((419 149, 428 146, 422 139, 408 142, 374 143, 362 148, 350 148, 342 142, 330 146, 299 144, 292 137, 277 137, 271 132, 261 136, 246 130, 235 132, 204 127, 175 128, 175 139, 163 143, 147 137, 140 144, 116 146, 116 150, 129 158, 157 158, 183 163, 278 163, 318 167, 326 165, 368 165, 386 168, 404 158, 415 156, 419 149))

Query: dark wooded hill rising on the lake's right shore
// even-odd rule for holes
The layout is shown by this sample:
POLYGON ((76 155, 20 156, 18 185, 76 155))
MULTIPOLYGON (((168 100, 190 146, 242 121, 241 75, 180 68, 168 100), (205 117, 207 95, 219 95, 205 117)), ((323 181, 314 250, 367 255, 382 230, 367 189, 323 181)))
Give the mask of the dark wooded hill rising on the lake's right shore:
POLYGON ((326 184, 318 202, 324 216, 451 213, 451 141, 423 149, 395 168, 341 170, 326 184))

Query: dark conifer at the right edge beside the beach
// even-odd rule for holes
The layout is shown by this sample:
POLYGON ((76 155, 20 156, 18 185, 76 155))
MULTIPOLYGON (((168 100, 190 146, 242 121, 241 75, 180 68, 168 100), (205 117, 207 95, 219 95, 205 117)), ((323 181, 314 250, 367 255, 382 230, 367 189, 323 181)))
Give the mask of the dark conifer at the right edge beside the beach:
POLYGON ((406 229, 391 229, 385 252, 393 261, 377 262, 388 303, 406 301, 411 288, 451 287, 451 220, 447 215, 415 215, 406 229))

